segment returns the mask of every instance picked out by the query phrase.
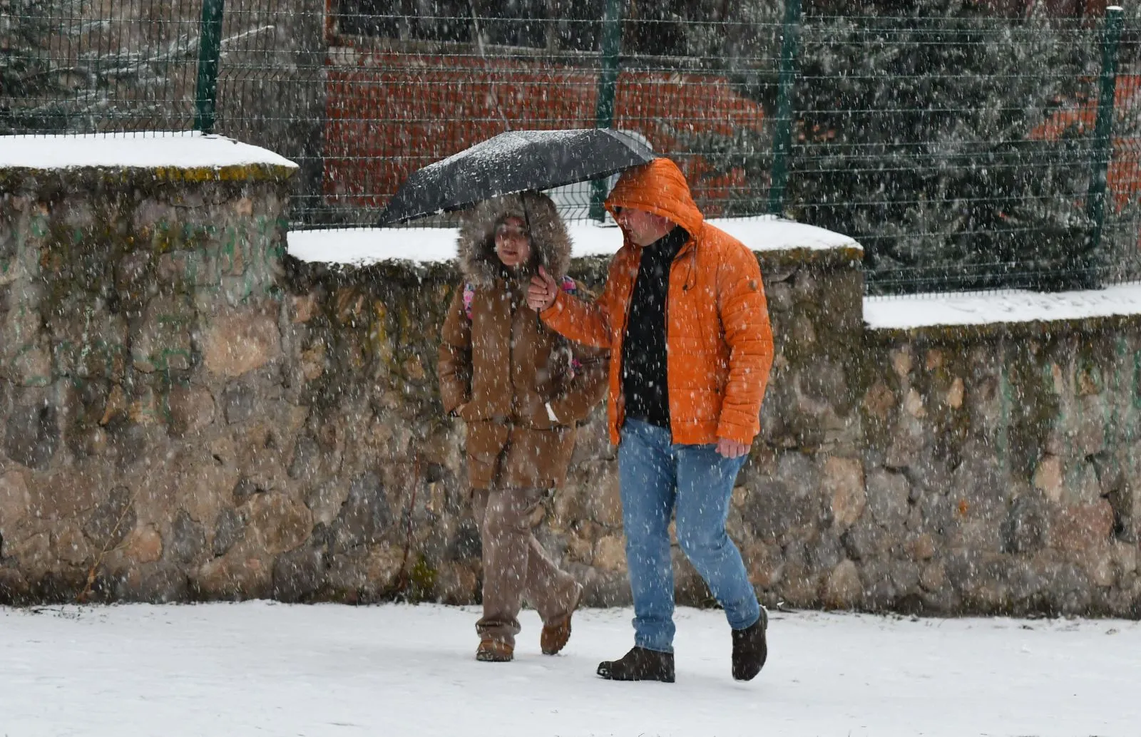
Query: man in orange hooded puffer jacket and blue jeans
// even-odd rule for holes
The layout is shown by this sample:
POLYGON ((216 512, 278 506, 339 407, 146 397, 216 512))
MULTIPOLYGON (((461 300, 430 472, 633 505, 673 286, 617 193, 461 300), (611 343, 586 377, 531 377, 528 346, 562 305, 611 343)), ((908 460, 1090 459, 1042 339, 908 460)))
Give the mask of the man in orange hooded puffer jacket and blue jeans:
POLYGON ((754 678, 768 617, 726 534, 729 496, 772 365, 756 258, 705 222, 669 159, 622 175, 606 201, 622 227, 597 302, 532 280, 528 303, 572 340, 610 350, 608 418, 618 446, 634 647, 598 666, 612 680, 674 680, 670 516, 681 549, 725 607, 733 675, 754 678))

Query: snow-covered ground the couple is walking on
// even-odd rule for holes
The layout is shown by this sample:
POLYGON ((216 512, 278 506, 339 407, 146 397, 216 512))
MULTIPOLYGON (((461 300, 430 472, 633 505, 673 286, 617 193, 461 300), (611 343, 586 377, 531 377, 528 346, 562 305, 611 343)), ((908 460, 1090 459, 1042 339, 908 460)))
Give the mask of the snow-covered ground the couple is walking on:
POLYGON ((678 682, 614 683, 629 609, 584 610, 563 655, 524 612, 517 659, 477 663, 475 608, 0 608, 0 735, 1132 737, 1141 623, 774 612, 729 675, 720 612, 681 609, 678 682))

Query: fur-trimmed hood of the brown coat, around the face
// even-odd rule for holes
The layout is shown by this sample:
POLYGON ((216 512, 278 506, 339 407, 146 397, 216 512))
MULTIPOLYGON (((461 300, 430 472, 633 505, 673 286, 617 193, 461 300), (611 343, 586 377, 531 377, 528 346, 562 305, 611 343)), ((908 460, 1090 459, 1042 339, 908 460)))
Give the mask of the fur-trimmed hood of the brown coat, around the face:
POLYGON ((570 266, 566 224, 550 197, 521 192, 484 200, 464 216, 456 244, 464 278, 476 286, 491 286, 502 276, 503 267, 495 254, 495 226, 512 216, 523 218, 531 233, 531 269, 520 272, 520 277, 529 281, 532 269, 537 272, 540 265, 556 281, 566 276, 570 266))

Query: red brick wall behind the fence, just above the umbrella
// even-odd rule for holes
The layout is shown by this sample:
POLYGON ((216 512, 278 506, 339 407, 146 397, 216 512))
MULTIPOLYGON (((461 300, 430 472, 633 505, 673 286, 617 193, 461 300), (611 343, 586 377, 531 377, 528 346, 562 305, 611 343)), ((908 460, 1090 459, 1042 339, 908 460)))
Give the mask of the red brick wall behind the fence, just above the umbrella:
MULTIPOLYGON (((334 50, 327 70, 324 193, 339 204, 381 206, 413 170, 509 129, 593 127, 597 70, 541 59, 334 50)), ((719 211, 744 172, 714 175, 683 137, 760 132, 761 106, 725 78, 626 72, 615 127, 645 135, 682 165, 694 195, 719 211)), ((754 183, 755 184, 755 183, 754 183)))

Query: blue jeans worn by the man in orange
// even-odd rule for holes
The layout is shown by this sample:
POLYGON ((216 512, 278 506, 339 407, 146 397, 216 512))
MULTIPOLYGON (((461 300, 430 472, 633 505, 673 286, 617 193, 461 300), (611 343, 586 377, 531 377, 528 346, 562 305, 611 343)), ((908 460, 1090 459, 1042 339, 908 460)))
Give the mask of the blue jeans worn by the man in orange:
POLYGON ((670 512, 674 505, 678 543, 725 608, 729 626, 743 630, 760 618, 741 551, 725 532, 734 480, 746 457, 727 459, 715 445, 674 445, 665 428, 625 421, 618 479, 638 647, 673 651, 670 512))

